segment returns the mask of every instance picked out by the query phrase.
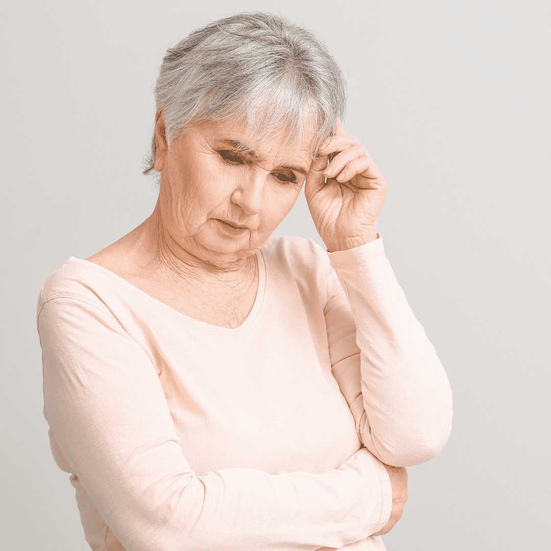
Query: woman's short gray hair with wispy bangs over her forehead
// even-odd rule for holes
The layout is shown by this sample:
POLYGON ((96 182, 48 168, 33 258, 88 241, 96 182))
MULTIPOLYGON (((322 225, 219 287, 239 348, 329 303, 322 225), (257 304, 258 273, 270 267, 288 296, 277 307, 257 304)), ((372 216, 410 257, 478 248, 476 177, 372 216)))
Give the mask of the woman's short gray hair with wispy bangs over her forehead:
MULTIPOLYGON (((253 142, 314 121, 312 160, 346 110, 341 68, 325 44, 280 15, 242 12, 196 29, 163 58, 155 85, 168 145, 193 124, 245 122, 253 142)), ((144 174, 154 170, 155 133, 144 174)))

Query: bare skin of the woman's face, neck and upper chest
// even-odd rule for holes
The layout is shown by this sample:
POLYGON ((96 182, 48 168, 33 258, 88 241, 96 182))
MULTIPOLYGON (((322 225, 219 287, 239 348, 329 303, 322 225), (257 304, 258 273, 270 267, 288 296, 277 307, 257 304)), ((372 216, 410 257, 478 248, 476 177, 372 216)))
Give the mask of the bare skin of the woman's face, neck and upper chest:
POLYGON ((239 327, 256 299, 256 253, 293 208, 304 183, 301 171, 311 164, 315 126, 309 121, 304 126, 308 132, 297 147, 285 133, 262 142, 245 122, 203 121, 169 147, 158 111, 155 169, 161 179, 155 209, 88 260, 182 314, 239 327), (249 153, 237 160, 223 153, 239 155, 238 142, 249 153), (231 235, 219 220, 249 229, 231 235))

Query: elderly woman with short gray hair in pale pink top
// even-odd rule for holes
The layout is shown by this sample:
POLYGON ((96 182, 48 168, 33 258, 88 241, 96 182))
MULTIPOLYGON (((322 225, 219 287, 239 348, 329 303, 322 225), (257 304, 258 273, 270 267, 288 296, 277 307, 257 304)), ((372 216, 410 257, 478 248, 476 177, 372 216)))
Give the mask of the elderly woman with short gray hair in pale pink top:
POLYGON ((156 102, 153 214, 70 257, 37 309, 90 547, 384 549, 451 391, 385 258, 386 183, 340 123, 336 62, 237 14, 168 50, 156 102), (270 237, 303 183, 327 251, 270 237))

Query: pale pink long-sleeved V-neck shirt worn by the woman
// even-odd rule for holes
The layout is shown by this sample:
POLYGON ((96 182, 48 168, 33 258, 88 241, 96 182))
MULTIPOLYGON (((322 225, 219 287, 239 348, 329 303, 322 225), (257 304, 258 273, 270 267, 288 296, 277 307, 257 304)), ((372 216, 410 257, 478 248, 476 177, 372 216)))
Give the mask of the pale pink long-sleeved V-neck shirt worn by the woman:
POLYGON ((44 415, 92 549, 385 549, 381 461, 444 446, 449 382, 381 237, 271 237, 257 258, 235 329, 79 258, 42 287, 44 415))

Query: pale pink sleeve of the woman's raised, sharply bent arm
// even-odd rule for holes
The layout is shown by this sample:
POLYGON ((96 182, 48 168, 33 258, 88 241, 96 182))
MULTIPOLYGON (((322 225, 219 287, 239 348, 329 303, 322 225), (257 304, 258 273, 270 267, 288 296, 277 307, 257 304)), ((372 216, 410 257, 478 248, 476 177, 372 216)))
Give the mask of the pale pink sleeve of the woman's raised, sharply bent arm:
POLYGON ((396 281, 382 238, 326 254, 341 283, 328 275, 332 372, 358 436, 384 463, 428 461, 450 435, 450 385, 396 281))

